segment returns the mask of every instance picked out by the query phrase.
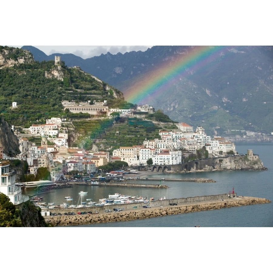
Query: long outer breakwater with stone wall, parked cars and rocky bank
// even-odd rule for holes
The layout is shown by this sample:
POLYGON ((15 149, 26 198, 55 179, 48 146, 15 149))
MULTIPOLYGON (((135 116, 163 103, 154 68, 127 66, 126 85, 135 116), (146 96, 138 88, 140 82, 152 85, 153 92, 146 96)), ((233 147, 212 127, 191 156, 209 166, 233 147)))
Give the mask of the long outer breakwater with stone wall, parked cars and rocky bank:
MULTIPOLYGON (((122 211, 114 211, 104 213, 105 209, 111 209, 113 206, 96 207, 94 210, 99 213, 92 214, 76 214, 67 216, 45 216, 45 221, 52 226, 68 226, 68 225, 82 225, 82 224, 96 224, 116 221, 130 221, 136 219, 146 219, 151 217, 167 216, 172 214, 189 213, 196 211, 207 211, 213 209, 221 209, 227 207, 239 207, 252 204, 265 204, 271 203, 270 200, 259 197, 237 197, 228 198, 228 194, 200 196, 200 197, 187 197, 163 201, 150 202, 150 208, 143 208, 141 204, 123 204, 122 211), (226 197, 226 199, 219 199, 219 197, 226 197), (195 201, 193 201, 195 200, 195 201), (198 201, 199 200, 199 201, 198 201), (177 203, 175 206, 170 206, 170 203, 177 203), (131 206, 130 206, 131 205, 131 206), (125 208, 124 208, 125 207, 125 208), (133 208, 134 207, 134 208, 133 208)), ((119 207, 114 206, 114 207, 119 207)), ((80 211, 92 211, 91 208, 81 208, 80 211)), ((79 209, 77 209, 79 210, 79 209)), ((72 211, 71 209, 69 211, 72 211)), ((65 211, 60 211, 61 213, 65 211)))

